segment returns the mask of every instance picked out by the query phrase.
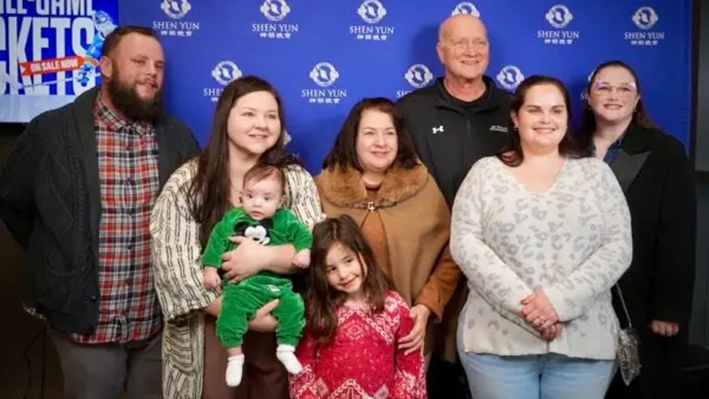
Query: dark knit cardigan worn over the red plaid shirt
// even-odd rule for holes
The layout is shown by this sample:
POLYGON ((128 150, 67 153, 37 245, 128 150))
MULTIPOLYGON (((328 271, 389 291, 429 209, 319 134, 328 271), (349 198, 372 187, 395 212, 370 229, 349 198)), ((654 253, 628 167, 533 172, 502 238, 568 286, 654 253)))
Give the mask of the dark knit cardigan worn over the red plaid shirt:
MULTIPOLYGON (((0 217, 26 253, 27 305, 67 333, 90 334, 98 320, 97 94, 91 89, 34 118, 0 172, 0 217)), ((199 145, 167 115, 154 123, 162 189, 199 145)))

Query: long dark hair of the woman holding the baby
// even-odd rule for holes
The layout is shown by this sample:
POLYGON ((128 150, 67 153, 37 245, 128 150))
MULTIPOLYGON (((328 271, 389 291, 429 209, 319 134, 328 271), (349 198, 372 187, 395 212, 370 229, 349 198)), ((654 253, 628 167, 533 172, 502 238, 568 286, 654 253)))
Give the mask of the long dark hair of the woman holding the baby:
POLYGON ((294 155, 286 153, 285 113, 283 102, 276 89, 266 80, 257 76, 244 76, 229 83, 217 101, 212 121, 212 131, 207 147, 202 151, 197 161, 197 174, 192 180, 187 195, 192 217, 200 224, 199 240, 204 246, 215 224, 230 208, 229 204, 229 151, 228 151, 228 121, 231 109, 243 96, 265 91, 271 93, 278 104, 278 117, 281 121, 281 132, 276 144, 266 150, 259 159, 259 164, 273 165, 283 168, 287 165, 301 165, 294 155))

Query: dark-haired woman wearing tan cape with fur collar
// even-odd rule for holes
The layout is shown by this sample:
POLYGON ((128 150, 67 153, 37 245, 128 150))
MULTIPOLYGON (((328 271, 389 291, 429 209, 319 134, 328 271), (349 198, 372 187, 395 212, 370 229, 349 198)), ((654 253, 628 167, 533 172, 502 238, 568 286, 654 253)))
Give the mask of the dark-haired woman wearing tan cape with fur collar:
POLYGON ((442 320, 460 269, 448 250, 448 206, 390 100, 353 107, 315 182, 324 213, 359 223, 377 264, 412 307, 414 329, 402 348, 420 350, 425 342, 428 355, 434 334, 427 327, 442 320))

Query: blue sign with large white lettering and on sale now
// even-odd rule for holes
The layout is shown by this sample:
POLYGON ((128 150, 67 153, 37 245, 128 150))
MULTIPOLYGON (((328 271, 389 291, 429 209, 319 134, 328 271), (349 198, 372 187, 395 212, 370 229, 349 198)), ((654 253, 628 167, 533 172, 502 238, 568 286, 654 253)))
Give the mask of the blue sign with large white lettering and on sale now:
POLYGON ((0 122, 28 122, 100 83, 118 0, 0 0, 0 122))

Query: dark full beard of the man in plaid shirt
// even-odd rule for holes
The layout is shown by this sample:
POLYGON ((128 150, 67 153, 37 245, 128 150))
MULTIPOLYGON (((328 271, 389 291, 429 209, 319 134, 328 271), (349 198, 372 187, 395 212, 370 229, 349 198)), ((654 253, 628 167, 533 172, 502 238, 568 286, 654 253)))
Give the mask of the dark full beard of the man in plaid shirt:
POLYGON ((145 101, 135 92, 135 86, 127 87, 114 76, 108 81, 108 96, 113 106, 132 121, 152 121, 162 111, 162 88, 155 92, 152 100, 145 101))

